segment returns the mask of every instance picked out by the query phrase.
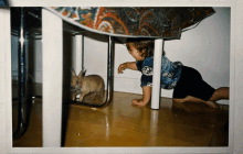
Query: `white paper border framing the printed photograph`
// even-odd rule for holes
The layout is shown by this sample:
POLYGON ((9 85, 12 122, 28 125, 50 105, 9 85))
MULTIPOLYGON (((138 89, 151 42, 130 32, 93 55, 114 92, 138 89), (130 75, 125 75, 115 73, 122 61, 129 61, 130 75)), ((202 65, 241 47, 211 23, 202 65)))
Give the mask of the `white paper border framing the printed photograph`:
POLYGON ((9 0, 10 7, 66 7, 66 6, 117 6, 117 7, 230 7, 231 8, 231 58, 230 58, 230 133, 229 147, 12 147, 11 119, 11 38, 10 13, 0 9, 0 153, 233 153, 241 151, 243 133, 243 2, 241 0, 9 0), (4 63, 2 63, 4 62, 4 63))

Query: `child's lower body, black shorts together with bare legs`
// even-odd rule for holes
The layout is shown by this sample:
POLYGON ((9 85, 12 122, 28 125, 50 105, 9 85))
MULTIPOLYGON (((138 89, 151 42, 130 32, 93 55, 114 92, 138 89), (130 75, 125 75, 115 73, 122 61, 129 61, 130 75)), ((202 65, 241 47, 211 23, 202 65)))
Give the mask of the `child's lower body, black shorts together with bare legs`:
POLYGON ((173 90, 173 98, 175 102, 203 102, 212 108, 219 108, 215 101, 229 99, 229 88, 224 87, 214 90, 202 79, 198 70, 183 67, 181 78, 173 90))

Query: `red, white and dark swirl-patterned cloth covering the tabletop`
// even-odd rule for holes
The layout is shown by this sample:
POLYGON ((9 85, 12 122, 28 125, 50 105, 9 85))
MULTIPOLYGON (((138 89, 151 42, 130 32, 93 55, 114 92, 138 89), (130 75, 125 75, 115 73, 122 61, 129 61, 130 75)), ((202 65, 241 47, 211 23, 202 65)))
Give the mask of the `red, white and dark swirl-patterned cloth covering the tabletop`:
POLYGON ((212 8, 45 8, 65 21, 109 35, 180 38, 182 30, 212 15, 212 8))

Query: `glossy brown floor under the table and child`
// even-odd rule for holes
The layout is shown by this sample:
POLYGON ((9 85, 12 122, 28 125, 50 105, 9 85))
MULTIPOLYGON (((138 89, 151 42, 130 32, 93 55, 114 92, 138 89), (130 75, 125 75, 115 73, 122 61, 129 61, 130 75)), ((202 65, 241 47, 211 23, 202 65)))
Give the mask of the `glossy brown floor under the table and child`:
MULTIPOLYGON (((114 92, 104 109, 63 105, 63 146, 228 146, 228 106, 211 109, 204 105, 173 105, 161 98, 160 109, 131 107, 140 95, 114 92)), ((13 129, 17 121, 13 102, 13 129)), ((30 125, 13 146, 42 146, 42 101, 33 100, 30 125)))

